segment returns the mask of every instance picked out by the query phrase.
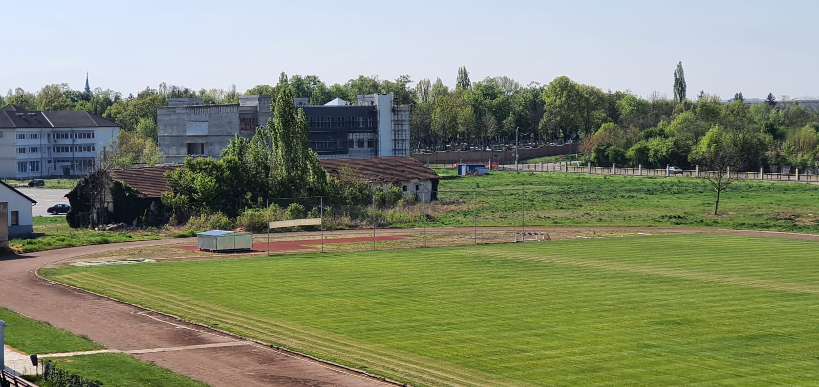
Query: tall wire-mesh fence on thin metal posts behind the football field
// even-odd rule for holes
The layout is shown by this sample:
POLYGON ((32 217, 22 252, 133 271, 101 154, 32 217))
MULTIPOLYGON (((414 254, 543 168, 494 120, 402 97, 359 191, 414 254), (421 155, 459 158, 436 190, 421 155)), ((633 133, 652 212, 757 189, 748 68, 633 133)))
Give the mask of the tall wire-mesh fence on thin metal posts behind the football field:
MULTIPOLYGON (((378 250, 530 239, 526 191, 375 191, 363 196, 309 196, 266 201, 260 214, 269 253, 378 250)), ((240 217, 241 218, 241 217, 240 217)), ((241 222, 240 222, 241 223, 241 222)), ((534 239, 534 238, 531 238, 534 239)))

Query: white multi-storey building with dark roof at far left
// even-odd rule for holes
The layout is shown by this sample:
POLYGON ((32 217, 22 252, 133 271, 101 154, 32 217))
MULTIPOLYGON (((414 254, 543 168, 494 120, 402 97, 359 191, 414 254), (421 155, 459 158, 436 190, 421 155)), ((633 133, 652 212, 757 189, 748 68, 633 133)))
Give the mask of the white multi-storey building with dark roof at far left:
POLYGON ((97 169, 120 125, 84 110, 0 108, 0 178, 78 176, 97 169))

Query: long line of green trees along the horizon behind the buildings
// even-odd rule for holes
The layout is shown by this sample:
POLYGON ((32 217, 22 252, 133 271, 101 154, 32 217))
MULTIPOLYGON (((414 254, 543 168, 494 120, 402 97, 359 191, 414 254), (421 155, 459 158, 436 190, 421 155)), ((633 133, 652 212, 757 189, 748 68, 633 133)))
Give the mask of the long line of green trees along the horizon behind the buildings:
MULTIPOLYGON (((14 103, 30 110, 88 110, 122 125, 117 149, 149 151, 112 155, 115 165, 161 160, 156 148, 156 107, 173 97, 200 97, 205 104, 237 103, 240 95, 270 94, 276 100, 287 88, 292 97, 309 98, 323 105, 342 98, 391 92, 396 104, 411 106, 411 139, 414 151, 494 148, 521 143, 581 141, 581 153, 594 164, 645 164, 688 167, 702 162, 700 144, 711 132, 730 133, 732 146, 744 155, 743 168, 758 166, 815 166, 816 113, 798 103, 776 101, 769 94, 763 103, 746 104, 741 92, 734 101, 700 91, 693 99, 686 90, 682 63, 673 72, 672 98, 660 92, 639 97, 626 91, 603 91, 592 85, 559 76, 548 84, 523 85, 506 77, 474 81, 460 67, 455 86, 441 78, 414 82, 409 75, 394 80, 360 75, 346 83, 328 85, 317 75, 280 74, 278 82, 258 84, 240 93, 228 89, 195 90, 161 83, 136 96, 97 88, 90 94, 71 90, 66 83, 43 87, 39 92, 20 88, 0 97, 0 105, 14 103), (136 145, 134 145, 136 144, 136 145)), ((705 141, 711 141, 714 136, 705 141)))

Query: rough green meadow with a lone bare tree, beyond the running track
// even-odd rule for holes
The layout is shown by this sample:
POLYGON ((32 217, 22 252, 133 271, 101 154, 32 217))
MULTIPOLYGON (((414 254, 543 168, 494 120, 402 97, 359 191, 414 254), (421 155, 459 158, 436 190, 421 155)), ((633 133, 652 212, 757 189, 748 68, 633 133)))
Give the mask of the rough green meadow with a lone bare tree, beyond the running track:
MULTIPOLYGON (((715 193, 696 178, 636 178, 580 173, 495 172, 457 177, 439 169, 439 198, 427 205, 432 226, 471 226, 473 193, 479 226, 519 226, 525 191, 527 226, 686 226, 819 233, 819 186, 735 182, 715 193), (492 191, 510 189, 511 191, 492 191), (468 192, 454 192, 454 191, 468 192), (514 191, 517 190, 517 191, 514 191)), ((420 211, 420 207, 414 209, 420 211)), ((419 222, 403 223, 417 227, 419 222)))

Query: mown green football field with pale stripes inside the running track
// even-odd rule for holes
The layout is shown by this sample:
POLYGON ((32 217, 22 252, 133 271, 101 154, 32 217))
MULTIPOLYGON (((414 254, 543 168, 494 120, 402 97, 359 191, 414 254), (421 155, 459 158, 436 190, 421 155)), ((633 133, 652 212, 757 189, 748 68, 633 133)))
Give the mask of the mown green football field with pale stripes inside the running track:
POLYGON ((817 385, 817 261, 696 234, 46 274, 412 385, 817 385))

